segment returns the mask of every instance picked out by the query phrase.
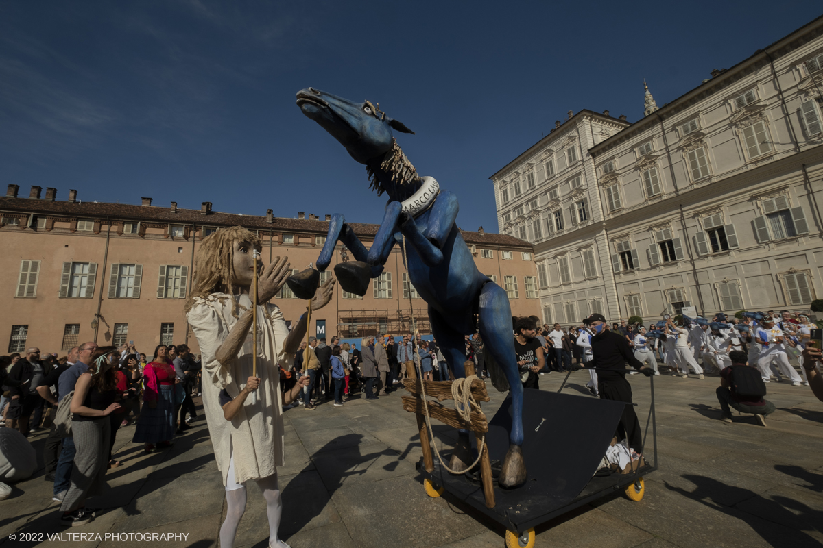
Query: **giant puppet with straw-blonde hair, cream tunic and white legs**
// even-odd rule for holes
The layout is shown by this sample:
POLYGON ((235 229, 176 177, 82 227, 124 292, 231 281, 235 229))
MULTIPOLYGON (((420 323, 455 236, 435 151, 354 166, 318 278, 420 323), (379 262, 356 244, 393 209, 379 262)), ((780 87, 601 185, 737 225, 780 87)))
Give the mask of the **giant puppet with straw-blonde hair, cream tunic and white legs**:
MULTIPOLYGON (((286 543, 277 538, 282 507, 277 487, 277 467, 283 464, 281 406, 291 403, 308 377, 301 377, 281 397, 277 365, 291 369, 305 336, 306 315, 290 332, 280 309, 269 303, 291 274, 291 265, 288 257, 277 257, 263 268, 255 258, 261 248, 260 239, 242 227, 205 237, 195 257, 186 318, 200 346, 203 409, 226 486, 228 510, 221 546, 234 545, 245 509, 244 482, 254 480, 266 498, 269 546, 284 548, 286 543), (255 282, 256 307, 252 305, 255 282), (254 398, 247 398, 249 394, 254 398)), ((328 304, 333 286, 334 280, 329 279, 318 288, 312 310, 328 304)))

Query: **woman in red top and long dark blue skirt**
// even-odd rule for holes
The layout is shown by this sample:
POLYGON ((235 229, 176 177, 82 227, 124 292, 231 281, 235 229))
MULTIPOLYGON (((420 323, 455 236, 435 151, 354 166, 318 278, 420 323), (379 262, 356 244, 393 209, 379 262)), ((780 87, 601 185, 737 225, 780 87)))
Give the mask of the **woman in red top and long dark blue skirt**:
POLYGON ((143 409, 137 421, 133 442, 145 444, 143 449, 146 453, 151 453, 155 444, 160 448, 170 447, 177 426, 174 420, 174 384, 177 375, 174 374, 168 355, 169 348, 165 344, 158 345, 151 362, 143 368, 146 388, 143 390, 143 409))

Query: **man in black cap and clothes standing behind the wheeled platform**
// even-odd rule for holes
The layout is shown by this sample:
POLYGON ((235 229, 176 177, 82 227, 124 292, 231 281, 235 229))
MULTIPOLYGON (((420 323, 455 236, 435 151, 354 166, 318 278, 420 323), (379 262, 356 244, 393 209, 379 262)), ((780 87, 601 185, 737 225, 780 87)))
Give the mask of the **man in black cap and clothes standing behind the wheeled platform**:
MULTIPOLYGON (((644 367, 629 347, 629 341, 622 334, 609 331, 606 318, 600 314, 593 314, 584 323, 591 325, 594 336, 590 339, 593 358, 584 363, 584 369, 597 369, 597 389, 602 399, 611 399, 616 402, 632 403, 631 385, 625 380, 625 364, 629 363, 644 375, 654 375, 651 367, 644 367)), ((576 370, 574 366, 572 370, 576 370)), ((635 415, 635 408, 627 405, 623 408, 623 416, 617 425, 617 439, 628 438, 629 447, 638 453, 642 451, 643 438, 640 433, 640 424, 635 415)))

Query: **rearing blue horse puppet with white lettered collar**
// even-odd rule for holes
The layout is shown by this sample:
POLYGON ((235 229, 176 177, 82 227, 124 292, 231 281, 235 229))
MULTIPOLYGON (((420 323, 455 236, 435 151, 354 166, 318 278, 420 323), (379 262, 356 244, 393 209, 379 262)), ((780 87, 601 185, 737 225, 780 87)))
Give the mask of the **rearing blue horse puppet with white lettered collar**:
MULTIPOLYGON (((346 147, 356 162, 365 164, 371 188, 378 196, 385 192, 389 198, 370 251, 366 251, 343 215, 333 214, 317 269, 328 268, 337 242, 342 242, 356 261, 335 266, 337 281, 345 291, 362 296, 370 279, 383 271, 393 246, 402 249, 405 242, 402 251, 407 258, 409 279, 429 306, 432 333, 454 374, 465 377, 463 336, 479 330, 486 345, 486 365, 492 382, 500 391, 510 389, 510 444, 498 482, 509 488, 522 485, 527 476, 521 451, 523 385, 514 352, 509 298, 477 269, 455 224, 457 196, 440 189, 432 177, 417 175, 393 137, 393 130, 414 132, 381 112, 378 106, 369 101, 354 103, 314 88, 300 90, 297 105, 346 147)), ((467 432, 461 431, 461 439, 459 447, 470 447, 467 432)), ((465 451, 460 454, 458 450, 450 467, 463 470, 469 458, 465 451)))

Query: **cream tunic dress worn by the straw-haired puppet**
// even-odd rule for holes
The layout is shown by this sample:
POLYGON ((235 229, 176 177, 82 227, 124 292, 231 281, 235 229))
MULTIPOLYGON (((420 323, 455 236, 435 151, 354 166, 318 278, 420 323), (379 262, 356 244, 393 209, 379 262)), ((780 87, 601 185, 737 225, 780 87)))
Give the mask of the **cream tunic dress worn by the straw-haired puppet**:
MULTIPOLYGON (((249 310, 248 295, 239 297, 239 316, 249 310)), ((235 455, 235 481, 269 477, 283 464, 283 419, 280 393, 280 372, 277 363, 290 369, 282 356, 282 345, 289 334, 280 309, 274 305, 258 306, 258 367, 260 388, 257 401, 246 398, 243 408, 232 421, 226 421, 218 401, 221 389, 236 398, 252 375, 252 330, 240 351, 230 363, 216 360, 217 348, 226 341, 237 319, 231 315, 231 297, 212 293, 206 298, 196 298, 195 305, 186 315, 198 338, 202 355, 202 398, 208 429, 212 435, 217 467, 222 472, 223 485, 232 450, 235 455)))

